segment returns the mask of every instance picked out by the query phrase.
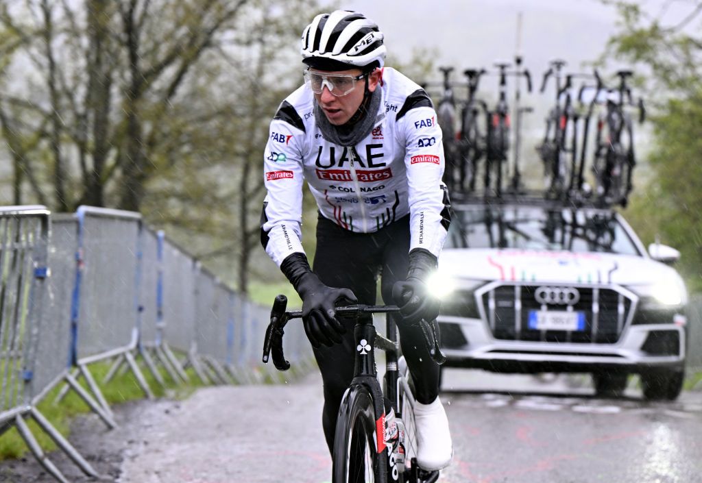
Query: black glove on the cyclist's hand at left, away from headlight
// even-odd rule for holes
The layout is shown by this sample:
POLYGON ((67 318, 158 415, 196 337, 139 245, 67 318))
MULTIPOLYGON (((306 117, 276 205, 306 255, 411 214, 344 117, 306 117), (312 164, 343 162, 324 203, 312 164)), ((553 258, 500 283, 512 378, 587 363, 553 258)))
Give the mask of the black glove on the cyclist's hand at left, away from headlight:
POLYGON ((280 268, 303 300, 303 326, 312 347, 331 347, 340 343, 341 334, 346 333, 346 329, 336 318, 334 306, 341 299, 347 303, 357 303, 354 293, 349 289, 324 285, 312 273, 304 253, 288 256, 280 268))

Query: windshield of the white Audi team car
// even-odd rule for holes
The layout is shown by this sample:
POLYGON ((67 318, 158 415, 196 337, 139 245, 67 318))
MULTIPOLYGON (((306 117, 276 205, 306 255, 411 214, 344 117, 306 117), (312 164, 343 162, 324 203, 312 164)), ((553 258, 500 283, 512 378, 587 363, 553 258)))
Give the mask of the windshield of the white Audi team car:
POLYGON ((458 206, 445 248, 640 255, 614 213, 538 206, 458 206))

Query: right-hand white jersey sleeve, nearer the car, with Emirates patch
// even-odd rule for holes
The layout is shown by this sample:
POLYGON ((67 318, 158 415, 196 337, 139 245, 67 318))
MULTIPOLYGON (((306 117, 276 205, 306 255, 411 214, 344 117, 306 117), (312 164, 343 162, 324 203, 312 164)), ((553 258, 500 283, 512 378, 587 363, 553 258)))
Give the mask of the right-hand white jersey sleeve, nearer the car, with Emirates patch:
POLYGON ((442 183, 442 131, 423 90, 409 95, 398 117, 398 141, 405 146, 409 185, 410 250, 425 249, 438 257, 451 222, 448 191, 442 183))

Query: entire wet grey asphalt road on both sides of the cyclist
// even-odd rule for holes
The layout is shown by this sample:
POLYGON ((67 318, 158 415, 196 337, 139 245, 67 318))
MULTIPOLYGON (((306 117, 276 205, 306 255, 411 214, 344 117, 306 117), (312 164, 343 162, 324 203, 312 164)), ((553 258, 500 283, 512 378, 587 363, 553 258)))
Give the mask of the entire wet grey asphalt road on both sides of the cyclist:
MULTIPOLYGON (((587 378, 446 370, 442 400, 455 456, 442 483, 702 483, 702 392, 649 404, 630 388, 595 399, 587 378)), ((185 401, 117 406, 71 437, 117 483, 326 483, 317 375, 277 386, 204 388, 185 401)), ((72 483, 88 479, 52 455, 72 483)), ((53 481, 27 458, 0 482, 53 481)))

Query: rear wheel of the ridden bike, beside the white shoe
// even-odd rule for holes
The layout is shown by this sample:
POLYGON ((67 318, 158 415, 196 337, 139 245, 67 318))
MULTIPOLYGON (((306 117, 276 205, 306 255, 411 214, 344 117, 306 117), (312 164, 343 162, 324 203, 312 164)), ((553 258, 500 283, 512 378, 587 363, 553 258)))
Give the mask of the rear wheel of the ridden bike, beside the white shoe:
POLYGON ((425 471, 417 465, 417 430, 414 420, 415 399, 412 393, 412 381, 404 356, 397 361, 399 372, 397 399, 399 417, 404 425, 405 471, 402 481, 407 483, 434 483, 439 479, 438 471, 425 471))

